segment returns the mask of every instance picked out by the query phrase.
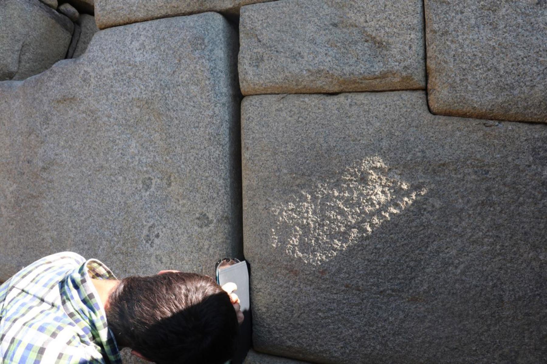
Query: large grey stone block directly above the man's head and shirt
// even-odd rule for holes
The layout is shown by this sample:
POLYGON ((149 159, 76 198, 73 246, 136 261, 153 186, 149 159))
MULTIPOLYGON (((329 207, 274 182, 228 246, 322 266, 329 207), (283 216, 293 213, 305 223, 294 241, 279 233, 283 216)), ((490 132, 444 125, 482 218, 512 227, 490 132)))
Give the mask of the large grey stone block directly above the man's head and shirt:
POLYGON ((0 279, 62 250, 120 277, 241 257, 236 54, 222 15, 172 17, 0 82, 0 279))

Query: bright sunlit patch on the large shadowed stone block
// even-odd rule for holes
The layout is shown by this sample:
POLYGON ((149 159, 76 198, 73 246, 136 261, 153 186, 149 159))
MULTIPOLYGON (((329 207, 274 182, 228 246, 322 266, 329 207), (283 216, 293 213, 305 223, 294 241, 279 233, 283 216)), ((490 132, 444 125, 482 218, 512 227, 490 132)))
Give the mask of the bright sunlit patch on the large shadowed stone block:
POLYGON ((389 172, 380 157, 348 166, 339 178, 315 183, 310 192, 292 195, 272 208, 277 217, 272 246, 312 265, 336 256, 369 236, 383 222, 403 212, 427 189, 389 172), (281 240, 278 231, 290 231, 281 240))

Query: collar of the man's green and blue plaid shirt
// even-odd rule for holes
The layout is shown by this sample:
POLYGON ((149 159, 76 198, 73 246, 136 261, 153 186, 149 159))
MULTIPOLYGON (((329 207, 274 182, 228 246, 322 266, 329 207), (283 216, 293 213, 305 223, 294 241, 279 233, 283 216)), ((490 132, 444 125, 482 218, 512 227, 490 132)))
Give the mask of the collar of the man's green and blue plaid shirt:
POLYGON ((90 259, 74 268, 60 285, 61 298, 68 316, 85 333, 90 342, 100 347, 105 360, 121 364, 118 345, 108 330, 103 303, 91 279, 116 279, 101 261, 90 259))

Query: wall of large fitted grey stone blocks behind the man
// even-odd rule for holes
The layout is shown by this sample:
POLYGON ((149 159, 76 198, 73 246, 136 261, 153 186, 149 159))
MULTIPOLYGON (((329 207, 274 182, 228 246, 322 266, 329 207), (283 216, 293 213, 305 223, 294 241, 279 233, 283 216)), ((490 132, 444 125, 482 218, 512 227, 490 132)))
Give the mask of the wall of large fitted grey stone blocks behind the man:
POLYGON ((0 281, 59 250, 122 277, 238 256, 247 363, 545 362, 546 19, 2 2, 0 281))

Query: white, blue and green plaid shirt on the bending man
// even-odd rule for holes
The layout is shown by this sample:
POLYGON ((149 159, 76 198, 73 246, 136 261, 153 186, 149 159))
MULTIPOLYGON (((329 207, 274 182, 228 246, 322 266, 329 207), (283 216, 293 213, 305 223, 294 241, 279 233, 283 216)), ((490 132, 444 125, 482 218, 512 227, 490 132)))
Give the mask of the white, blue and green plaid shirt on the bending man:
POLYGON ((0 362, 121 363, 90 278, 115 279, 100 261, 57 253, 0 286, 0 362))

